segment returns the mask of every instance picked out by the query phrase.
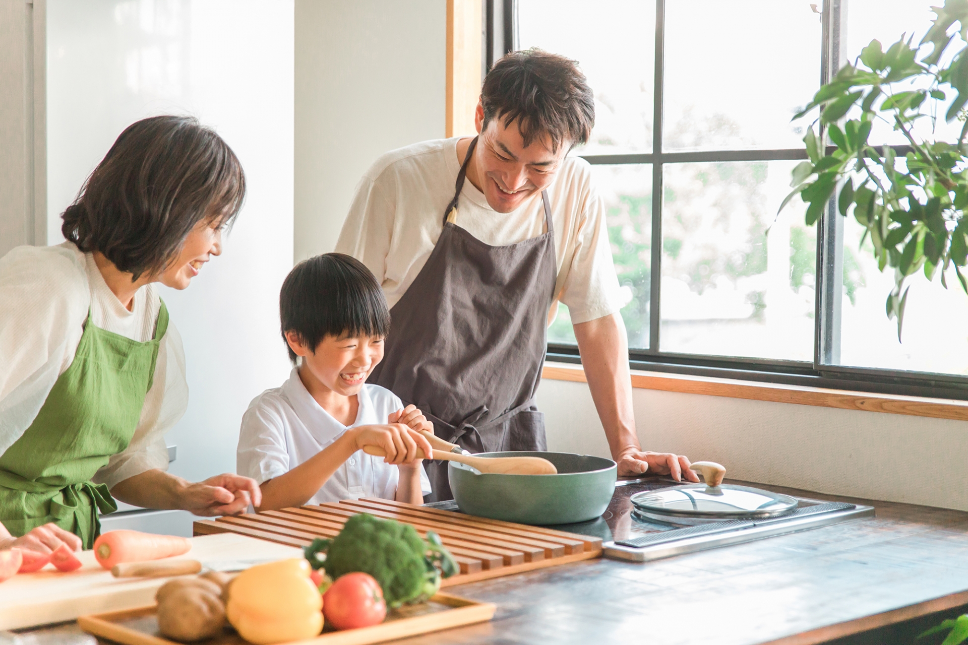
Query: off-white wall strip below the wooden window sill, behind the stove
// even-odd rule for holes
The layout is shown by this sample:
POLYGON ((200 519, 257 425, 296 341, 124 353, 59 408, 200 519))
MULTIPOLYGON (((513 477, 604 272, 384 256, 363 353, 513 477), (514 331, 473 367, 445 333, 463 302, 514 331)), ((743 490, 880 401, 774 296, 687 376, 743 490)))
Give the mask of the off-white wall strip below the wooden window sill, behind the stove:
MULTIPOLYGON (((645 450, 718 461, 727 477, 968 511, 968 423, 635 390, 645 450)), ((609 456, 585 383, 542 381, 552 451, 609 456)))

